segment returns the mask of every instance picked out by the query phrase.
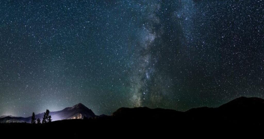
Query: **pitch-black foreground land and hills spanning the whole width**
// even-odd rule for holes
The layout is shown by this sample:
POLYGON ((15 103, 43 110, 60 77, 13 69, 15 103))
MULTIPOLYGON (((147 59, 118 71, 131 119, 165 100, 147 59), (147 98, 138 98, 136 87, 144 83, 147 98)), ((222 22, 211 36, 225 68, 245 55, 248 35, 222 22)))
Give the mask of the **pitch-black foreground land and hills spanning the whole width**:
POLYGON ((59 120, 47 124, 1 123, 2 133, 57 134, 63 136, 88 133, 173 133, 179 130, 216 130, 263 128, 264 100, 240 97, 217 108, 194 108, 186 112, 148 107, 120 108, 112 116, 59 120))

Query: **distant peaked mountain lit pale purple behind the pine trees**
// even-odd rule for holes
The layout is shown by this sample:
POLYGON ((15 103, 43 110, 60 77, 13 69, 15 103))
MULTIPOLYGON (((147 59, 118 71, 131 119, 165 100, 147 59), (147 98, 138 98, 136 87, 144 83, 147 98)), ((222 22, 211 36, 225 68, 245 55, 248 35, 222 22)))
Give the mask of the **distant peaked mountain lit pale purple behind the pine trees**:
MULTIPOLYGON (((36 114, 36 119, 39 118, 42 120, 44 113, 36 114)), ((74 105, 73 107, 67 107, 60 111, 52 111, 50 112, 52 121, 56 120, 63 120, 63 119, 83 119, 84 116, 87 118, 95 117, 96 115, 93 113, 93 111, 83 104, 79 103, 77 105, 74 105)), ((31 122, 31 116, 30 117, 12 117, 12 116, 4 116, 3 118, 0 118, 0 123, 4 122, 31 122)))

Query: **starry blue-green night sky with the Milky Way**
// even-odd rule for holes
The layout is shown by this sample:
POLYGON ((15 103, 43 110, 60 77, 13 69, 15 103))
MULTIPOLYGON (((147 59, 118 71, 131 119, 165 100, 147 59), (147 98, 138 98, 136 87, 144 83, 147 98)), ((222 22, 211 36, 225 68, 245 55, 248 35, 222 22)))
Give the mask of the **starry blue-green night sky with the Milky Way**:
POLYGON ((263 0, 0 1, 0 115, 264 98, 263 0))

